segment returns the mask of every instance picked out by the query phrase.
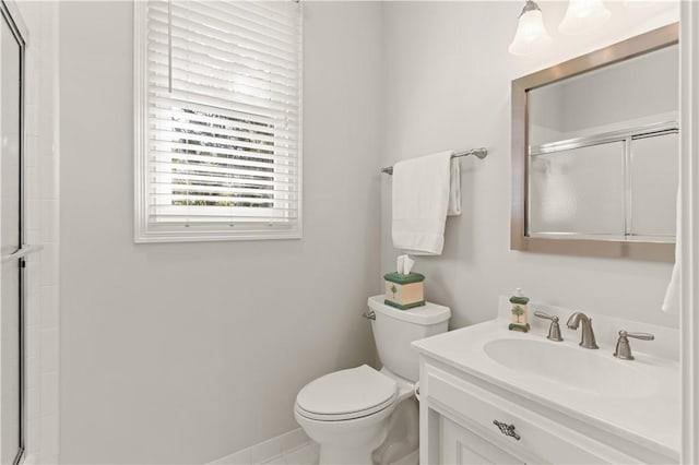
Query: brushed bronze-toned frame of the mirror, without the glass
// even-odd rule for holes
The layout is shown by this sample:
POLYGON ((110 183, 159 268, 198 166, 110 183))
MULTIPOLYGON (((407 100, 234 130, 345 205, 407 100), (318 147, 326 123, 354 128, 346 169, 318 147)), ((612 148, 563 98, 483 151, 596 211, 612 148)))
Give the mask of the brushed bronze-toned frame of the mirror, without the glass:
POLYGON ((672 262, 672 242, 568 239, 526 236, 529 212, 528 91, 643 55, 679 41, 679 23, 668 24, 512 81, 512 204, 510 249, 541 253, 630 258, 672 262))

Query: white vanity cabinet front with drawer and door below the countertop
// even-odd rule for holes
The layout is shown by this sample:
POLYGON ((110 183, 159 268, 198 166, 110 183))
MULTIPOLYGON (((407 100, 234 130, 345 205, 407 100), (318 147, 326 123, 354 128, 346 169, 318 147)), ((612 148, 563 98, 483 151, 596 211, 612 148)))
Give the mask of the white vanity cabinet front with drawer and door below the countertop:
POLYGON ((423 464, 674 462, 477 374, 420 358, 423 464))

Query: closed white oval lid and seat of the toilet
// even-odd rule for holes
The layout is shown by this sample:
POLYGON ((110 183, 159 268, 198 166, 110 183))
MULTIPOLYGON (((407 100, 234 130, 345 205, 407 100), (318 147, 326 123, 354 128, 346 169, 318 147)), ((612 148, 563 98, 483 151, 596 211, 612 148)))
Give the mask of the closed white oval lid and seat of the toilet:
POLYGON ((395 380, 363 365, 306 384, 296 396, 296 407, 313 419, 359 418, 391 405, 396 390, 395 380))

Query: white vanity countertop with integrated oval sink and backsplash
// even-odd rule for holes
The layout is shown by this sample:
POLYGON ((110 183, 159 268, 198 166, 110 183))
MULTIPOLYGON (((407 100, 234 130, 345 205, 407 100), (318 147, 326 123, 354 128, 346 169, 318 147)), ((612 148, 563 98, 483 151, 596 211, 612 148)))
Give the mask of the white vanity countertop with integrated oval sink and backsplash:
MULTIPOLYGON (((416 341, 413 346, 424 360, 496 386, 494 395, 511 392, 529 400, 526 408, 553 408, 674 457, 665 462, 679 461, 679 363, 653 351, 661 342, 677 341, 676 330, 639 327, 633 322, 593 315, 601 348, 587 349, 578 345, 580 333, 566 329, 562 342, 546 338, 546 324, 529 333, 508 331, 510 302, 501 300, 502 318, 416 341), (612 353, 619 327, 653 333, 656 341, 645 346, 635 342, 633 361, 616 359, 612 353)), ((429 396, 429 385, 423 394, 429 396)))

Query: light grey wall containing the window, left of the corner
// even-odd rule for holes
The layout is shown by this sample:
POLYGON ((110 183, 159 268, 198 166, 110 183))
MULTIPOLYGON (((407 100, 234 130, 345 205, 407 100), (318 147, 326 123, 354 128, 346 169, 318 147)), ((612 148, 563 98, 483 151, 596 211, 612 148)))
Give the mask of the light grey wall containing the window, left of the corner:
POLYGON ((304 8, 304 239, 137 246, 132 4, 61 2, 62 462, 211 461, 372 360, 380 5, 304 8))

